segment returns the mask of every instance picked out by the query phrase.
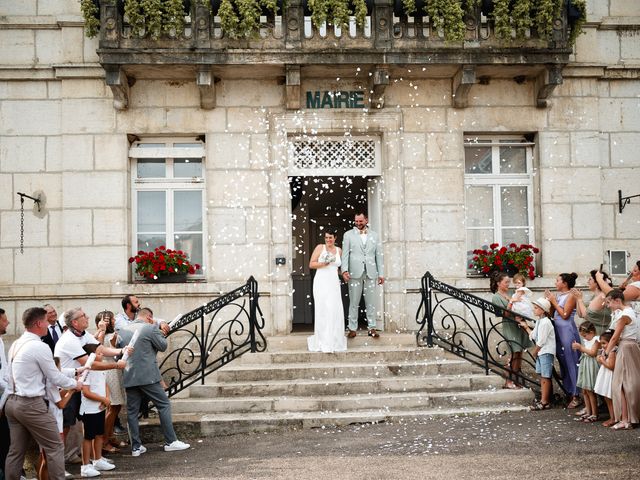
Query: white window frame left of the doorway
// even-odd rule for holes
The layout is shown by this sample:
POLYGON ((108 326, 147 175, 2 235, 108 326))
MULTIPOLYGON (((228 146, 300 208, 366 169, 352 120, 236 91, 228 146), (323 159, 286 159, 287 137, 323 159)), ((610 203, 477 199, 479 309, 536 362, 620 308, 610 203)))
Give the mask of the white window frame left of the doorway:
MULTIPOLYGON (((175 218, 174 218, 174 193, 177 191, 199 191, 201 194, 202 206, 202 230, 195 232, 179 232, 177 234, 200 234, 202 236, 202 262, 199 273, 189 275, 189 280, 205 280, 207 259, 207 217, 206 217, 206 155, 205 143, 202 140, 192 137, 145 137, 136 139, 129 148, 129 165, 131 168, 131 256, 138 253, 138 192, 165 192, 165 246, 175 249, 175 218), (142 144, 164 143, 165 147, 141 147, 142 144), (201 144, 200 147, 180 147, 175 146, 181 143, 201 144), (171 146, 168 146, 171 145, 171 146), (163 159, 165 160, 165 177, 145 177, 137 176, 138 161, 141 159, 163 159), (198 177, 174 177, 175 159, 193 158, 200 159, 202 165, 201 175, 198 177)), ((144 232, 152 233, 152 232, 144 232)), ((193 262, 191 252, 189 261, 193 262)), ((141 280, 132 270, 134 280, 141 280)))

